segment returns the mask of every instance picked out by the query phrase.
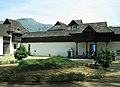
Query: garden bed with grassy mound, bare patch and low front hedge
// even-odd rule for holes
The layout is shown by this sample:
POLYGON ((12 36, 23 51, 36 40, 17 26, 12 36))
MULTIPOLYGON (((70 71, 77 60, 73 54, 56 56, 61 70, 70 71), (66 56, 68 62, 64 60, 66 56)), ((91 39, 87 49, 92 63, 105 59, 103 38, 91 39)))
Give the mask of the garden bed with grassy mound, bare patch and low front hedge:
POLYGON ((0 78, 9 82, 78 81, 87 77, 85 73, 88 72, 81 72, 82 68, 90 70, 85 65, 86 63, 72 61, 65 57, 21 60, 16 67, 1 72, 0 78))

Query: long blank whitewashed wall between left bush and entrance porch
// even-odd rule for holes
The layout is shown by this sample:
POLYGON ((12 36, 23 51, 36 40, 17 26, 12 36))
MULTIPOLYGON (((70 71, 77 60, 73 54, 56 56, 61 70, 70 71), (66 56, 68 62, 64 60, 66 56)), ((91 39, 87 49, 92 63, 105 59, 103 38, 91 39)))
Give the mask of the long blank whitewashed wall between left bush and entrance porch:
MULTIPOLYGON (((69 49, 75 50, 74 42, 29 43, 31 55, 40 56, 68 56, 69 49)), ((28 44, 24 44, 28 49, 28 44)))

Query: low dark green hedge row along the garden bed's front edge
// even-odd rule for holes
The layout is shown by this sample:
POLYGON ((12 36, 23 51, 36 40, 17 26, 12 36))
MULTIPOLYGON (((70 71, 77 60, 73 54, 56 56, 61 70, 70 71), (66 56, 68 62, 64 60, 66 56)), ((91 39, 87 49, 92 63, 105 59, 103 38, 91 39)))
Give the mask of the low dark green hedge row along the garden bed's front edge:
POLYGON ((84 81, 87 79, 87 76, 82 73, 68 72, 68 73, 59 73, 59 74, 44 74, 44 73, 35 73, 35 74, 25 74, 25 73, 2 73, 0 80, 9 81, 9 82, 69 82, 69 81, 84 81))

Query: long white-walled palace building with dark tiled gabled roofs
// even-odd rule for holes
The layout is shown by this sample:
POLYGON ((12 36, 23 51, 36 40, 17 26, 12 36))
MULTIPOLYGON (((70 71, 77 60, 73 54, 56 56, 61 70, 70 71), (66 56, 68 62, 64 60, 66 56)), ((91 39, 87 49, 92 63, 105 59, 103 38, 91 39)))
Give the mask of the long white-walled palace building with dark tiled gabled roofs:
POLYGON ((30 55, 68 56, 71 51, 72 56, 88 56, 108 47, 119 56, 120 27, 72 20, 68 25, 57 21, 47 31, 29 32, 17 20, 6 19, 0 25, 0 55, 13 54, 20 43, 30 55))

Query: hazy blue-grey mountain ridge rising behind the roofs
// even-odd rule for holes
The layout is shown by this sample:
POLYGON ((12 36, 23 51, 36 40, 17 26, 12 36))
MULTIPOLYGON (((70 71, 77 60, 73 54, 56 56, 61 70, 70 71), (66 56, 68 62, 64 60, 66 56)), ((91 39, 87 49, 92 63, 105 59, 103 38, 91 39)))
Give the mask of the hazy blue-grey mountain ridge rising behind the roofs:
MULTIPOLYGON (((53 26, 51 24, 39 23, 32 18, 20 18, 17 20, 30 32, 46 31, 53 26)), ((0 24, 2 23, 3 21, 0 21, 0 24)))

